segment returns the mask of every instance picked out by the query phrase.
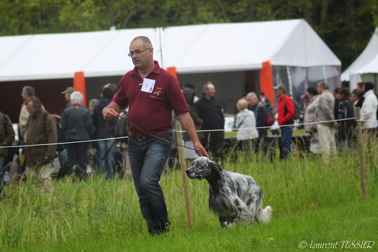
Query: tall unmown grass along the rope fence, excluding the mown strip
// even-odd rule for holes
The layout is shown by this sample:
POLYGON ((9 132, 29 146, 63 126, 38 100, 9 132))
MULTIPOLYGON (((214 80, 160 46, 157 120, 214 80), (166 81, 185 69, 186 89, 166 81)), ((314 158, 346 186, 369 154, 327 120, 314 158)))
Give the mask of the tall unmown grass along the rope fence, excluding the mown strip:
MULTIPOLYGON (((374 156, 377 148, 372 145, 366 151, 369 201, 378 198, 378 164, 374 156)), ((307 211, 363 202, 356 150, 329 160, 309 157, 295 148, 286 161, 280 160, 277 151, 271 157, 262 154, 246 157, 242 153, 238 153, 236 159, 233 157, 235 155, 230 155, 222 168, 255 178, 264 191, 264 206, 273 208, 273 221, 307 211)), ((108 181, 95 175, 85 182, 71 181, 71 177, 54 180, 49 192, 33 181, 7 184, 7 199, 0 202, 1 251, 28 251, 41 248, 41 245, 57 251, 78 248, 122 251, 118 246, 125 244, 132 244, 137 250, 146 248, 146 243, 159 247, 158 238, 147 235, 132 181, 108 181)), ((217 217, 208 210, 207 182, 188 182, 194 227, 203 236, 217 239, 227 232, 231 233, 227 236, 236 236, 242 232, 239 229, 251 232, 243 225, 239 225, 239 231, 221 229, 217 217)), ((180 241, 182 250, 190 250, 190 241, 183 243, 187 238, 190 240, 193 233, 187 229, 180 170, 168 169, 162 175, 161 185, 173 223, 171 242, 180 241)))

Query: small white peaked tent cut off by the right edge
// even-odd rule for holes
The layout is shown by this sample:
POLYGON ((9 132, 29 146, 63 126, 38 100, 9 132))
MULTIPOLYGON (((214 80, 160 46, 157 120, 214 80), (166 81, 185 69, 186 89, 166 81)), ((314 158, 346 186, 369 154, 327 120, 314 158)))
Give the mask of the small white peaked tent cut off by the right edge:
POLYGON ((341 74, 341 80, 349 81, 351 89, 355 89, 361 81, 378 85, 378 27, 364 51, 341 74))

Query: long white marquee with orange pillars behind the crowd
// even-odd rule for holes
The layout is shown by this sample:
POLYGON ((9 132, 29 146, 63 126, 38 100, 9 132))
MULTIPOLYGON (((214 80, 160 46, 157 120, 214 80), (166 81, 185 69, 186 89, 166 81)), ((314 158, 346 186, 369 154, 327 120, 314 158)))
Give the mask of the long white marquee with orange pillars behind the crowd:
MULTIPOLYGON (((19 95, 25 81, 31 81, 37 89, 44 83, 49 98, 59 100, 60 91, 66 88, 62 80, 68 86, 74 77, 74 87, 85 99, 86 95, 97 98, 100 85, 110 80, 116 83, 133 69, 127 53, 137 36, 149 37, 154 59, 164 69, 176 72, 180 83, 194 84, 197 95, 204 82, 212 81, 227 113, 234 112, 237 99, 246 90, 265 92, 274 101, 272 86, 280 83, 299 101, 307 86, 318 81, 327 81, 331 88, 340 86, 339 59, 305 20, 293 19, 3 36, 0 83, 14 90, 11 94, 0 92, 0 99, 19 95), (83 80, 80 86, 75 82, 78 79, 83 80), (59 90, 54 84, 60 84, 59 90)), ((48 104, 50 100, 44 102, 54 106, 48 104)), ((10 110, 1 105, 0 109, 10 110)), ((10 113, 15 118, 19 108, 13 110, 10 113)))

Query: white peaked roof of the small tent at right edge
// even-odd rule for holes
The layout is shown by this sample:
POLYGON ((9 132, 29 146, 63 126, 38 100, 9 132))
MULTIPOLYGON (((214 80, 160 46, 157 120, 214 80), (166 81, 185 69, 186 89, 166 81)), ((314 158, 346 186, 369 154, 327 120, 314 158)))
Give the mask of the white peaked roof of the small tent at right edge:
POLYGON ((378 73, 378 27, 364 51, 341 74, 342 81, 349 81, 351 75, 378 73))

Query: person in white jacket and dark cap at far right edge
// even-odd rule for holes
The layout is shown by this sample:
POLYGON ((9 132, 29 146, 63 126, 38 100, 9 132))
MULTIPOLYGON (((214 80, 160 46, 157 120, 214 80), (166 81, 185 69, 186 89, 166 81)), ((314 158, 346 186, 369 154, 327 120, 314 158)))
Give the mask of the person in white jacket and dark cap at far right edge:
POLYGON ((377 96, 373 91, 374 84, 371 82, 365 83, 365 94, 364 94, 364 102, 362 103, 361 107, 361 120, 362 120, 362 128, 369 129, 365 131, 376 131, 376 123, 377 123, 377 106, 378 100, 377 96))

